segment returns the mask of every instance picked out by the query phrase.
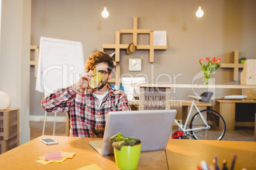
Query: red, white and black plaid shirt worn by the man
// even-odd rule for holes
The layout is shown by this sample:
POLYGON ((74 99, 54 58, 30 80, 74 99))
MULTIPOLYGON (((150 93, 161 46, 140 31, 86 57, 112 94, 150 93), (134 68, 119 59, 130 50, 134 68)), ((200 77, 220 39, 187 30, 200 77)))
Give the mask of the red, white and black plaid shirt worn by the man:
POLYGON ((75 91, 72 85, 45 96, 41 107, 46 112, 69 112, 70 136, 103 138, 106 116, 110 111, 131 110, 125 93, 108 86, 101 107, 92 89, 75 91))

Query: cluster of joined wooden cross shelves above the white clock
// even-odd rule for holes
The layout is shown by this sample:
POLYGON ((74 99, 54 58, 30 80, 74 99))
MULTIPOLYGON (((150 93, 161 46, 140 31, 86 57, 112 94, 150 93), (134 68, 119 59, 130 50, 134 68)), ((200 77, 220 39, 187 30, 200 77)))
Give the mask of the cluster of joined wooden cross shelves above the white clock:
POLYGON ((153 45, 153 32, 149 29, 138 29, 138 17, 133 17, 133 29, 121 29, 115 32, 115 44, 103 44, 104 49, 115 49, 115 62, 120 62, 120 49, 127 49, 129 44, 120 44, 121 34, 132 34, 132 43, 136 46, 136 49, 149 49, 150 63, 154 62, 154 51, 155 49, 167 49, 167 46, 155 46, 153 45), (150 42, 146 45, 138 45, 138 34, 149 34, 150 42))

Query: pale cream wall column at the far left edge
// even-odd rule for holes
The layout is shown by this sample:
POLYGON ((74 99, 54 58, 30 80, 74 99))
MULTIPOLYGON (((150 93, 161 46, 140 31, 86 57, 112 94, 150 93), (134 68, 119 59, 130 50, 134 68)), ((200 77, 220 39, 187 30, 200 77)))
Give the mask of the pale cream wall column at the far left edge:
POLYGON ((31 0, 2 0, 0 91, 20 109, 20 145, 30 140, 29 60, 31 0))

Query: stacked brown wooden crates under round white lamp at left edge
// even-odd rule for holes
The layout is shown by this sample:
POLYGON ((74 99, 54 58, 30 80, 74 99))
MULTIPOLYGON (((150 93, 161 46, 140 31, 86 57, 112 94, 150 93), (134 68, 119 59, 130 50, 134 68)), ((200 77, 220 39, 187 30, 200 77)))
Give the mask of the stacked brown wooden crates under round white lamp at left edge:
POLYGON ((19 109, 0 110, 0 154, 18 146, 19 109))

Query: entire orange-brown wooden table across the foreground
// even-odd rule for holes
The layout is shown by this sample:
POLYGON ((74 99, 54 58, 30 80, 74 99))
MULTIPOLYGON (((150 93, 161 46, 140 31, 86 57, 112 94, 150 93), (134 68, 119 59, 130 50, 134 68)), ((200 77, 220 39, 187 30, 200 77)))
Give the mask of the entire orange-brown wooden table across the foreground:
MULTIPOLYGON (((89 145, 90 140, 68 136, 40 136, 0 155, 1 169, 78 169, 97 164, 102 169, 118 169, 114 156, 102 157, 89 145), (58 145, 45 145, 39 138, 53 138, 58 145), (37 157, 48 152, 75 152, 73 159, 47 165, 36 162, 37 157)), ((207 141, 169 140, 166 150, 142 152, 138 169, 196 169, 201 160, 211 163, 218 154, 219 164, 227 160, 230 167, 232 155, 238 154, 235 169, 256 169, 256 142, 254 141, 207 141), (239 146, 239 147, 238 147, 239 146)))

